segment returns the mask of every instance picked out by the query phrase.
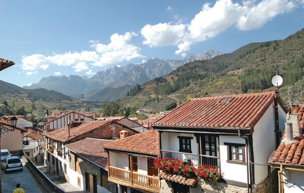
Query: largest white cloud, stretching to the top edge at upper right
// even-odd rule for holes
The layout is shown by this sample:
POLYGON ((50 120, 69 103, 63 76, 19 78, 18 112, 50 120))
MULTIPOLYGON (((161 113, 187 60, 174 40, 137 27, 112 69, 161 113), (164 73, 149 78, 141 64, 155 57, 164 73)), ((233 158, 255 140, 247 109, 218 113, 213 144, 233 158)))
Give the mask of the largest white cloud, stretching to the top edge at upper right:
POLYGON ((235 25, 240 30, 256 29, 275 16, 291 11, 295 6, 293 0, 248 0, 242 5, 232 0, 218 0, 213 6, 205 3, 202 11, 189 24, 181 24, 183 20, 179 20, 179 15, 174 15, 175 24, 169 22, 145 25, 141 29, 145 38, 143 45, 176 45, 178 50, 175 54, 185 56, 185 52, 195 42, 215 37, 230 26, 235 25))

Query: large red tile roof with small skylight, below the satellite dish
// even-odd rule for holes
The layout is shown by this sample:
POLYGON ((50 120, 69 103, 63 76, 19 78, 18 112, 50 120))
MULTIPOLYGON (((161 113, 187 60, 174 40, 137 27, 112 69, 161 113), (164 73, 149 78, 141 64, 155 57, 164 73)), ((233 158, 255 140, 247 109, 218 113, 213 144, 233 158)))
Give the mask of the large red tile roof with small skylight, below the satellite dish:
POLYGON ((252 128, 276 97, 275 92, 191 98, 152 123, 156 126, 252 128), (223 99, 229 98, 226 102, 223 99))

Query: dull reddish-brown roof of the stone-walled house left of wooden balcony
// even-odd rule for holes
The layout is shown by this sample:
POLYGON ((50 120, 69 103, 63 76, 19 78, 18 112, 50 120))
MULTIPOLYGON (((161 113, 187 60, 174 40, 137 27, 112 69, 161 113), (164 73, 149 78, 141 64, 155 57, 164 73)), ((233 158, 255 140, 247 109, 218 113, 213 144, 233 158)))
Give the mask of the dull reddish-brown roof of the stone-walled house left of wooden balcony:
POLYGON ((93 161, 97 165, 107 168, 108 154, 105 152, 103 146, 111 141, 113 140, 85 138, 74 143, 64 145, 64 147, 84 158, 87 158, 90 161, 93 161))

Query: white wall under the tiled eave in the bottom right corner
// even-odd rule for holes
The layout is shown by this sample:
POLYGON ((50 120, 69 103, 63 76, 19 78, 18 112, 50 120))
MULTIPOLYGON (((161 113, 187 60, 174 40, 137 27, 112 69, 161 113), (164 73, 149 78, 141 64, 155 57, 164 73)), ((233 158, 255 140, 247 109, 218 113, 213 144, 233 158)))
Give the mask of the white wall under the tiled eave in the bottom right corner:
POLYGON ((284 193, 304 192, 303 171, 284 170, 284 193))

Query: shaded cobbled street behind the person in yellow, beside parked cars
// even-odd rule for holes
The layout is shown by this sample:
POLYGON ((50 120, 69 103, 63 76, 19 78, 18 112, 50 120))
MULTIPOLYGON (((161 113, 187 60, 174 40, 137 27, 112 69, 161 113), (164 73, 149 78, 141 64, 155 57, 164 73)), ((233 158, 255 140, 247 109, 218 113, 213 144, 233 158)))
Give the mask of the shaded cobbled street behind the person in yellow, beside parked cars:
POLYGON ((23 163, 23 171, 8 171, 7 174, 4 173, 4 170, 1 170, 2 177, 2 192, 11 193, 15 188, 16 184, 20 184, 20 188, 26 193, 29 192, 47 192, 39 181, 35 178, 32 172, 29 170, 30 166, 26 166, 26 163, 23 163))

